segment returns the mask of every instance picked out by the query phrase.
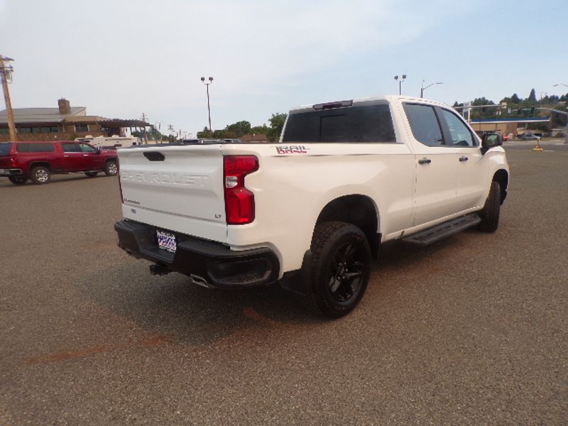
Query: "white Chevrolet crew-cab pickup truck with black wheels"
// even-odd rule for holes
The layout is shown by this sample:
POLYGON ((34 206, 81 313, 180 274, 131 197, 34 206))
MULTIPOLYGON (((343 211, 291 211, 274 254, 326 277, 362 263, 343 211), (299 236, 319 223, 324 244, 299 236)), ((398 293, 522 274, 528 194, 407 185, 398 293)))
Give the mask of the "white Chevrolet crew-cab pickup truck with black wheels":
POLYGON ((447 105, 386 96, 293 109, 278 143, 119 149, 119 247, 153 274, 210 288, 278 281, 342 317, 381 243, 497 229, 501 143, 447 105))

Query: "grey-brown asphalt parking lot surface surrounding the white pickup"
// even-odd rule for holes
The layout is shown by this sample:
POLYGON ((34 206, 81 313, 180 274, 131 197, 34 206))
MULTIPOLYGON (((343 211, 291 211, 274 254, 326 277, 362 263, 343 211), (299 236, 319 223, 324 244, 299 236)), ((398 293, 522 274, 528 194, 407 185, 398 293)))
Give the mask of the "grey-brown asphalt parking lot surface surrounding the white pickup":
POLYGON ((386 245, 337 321, 151 276, 116 178, 2 178, 0 425, 566 425, 568 146, 532 145, 495 234, 386 245))

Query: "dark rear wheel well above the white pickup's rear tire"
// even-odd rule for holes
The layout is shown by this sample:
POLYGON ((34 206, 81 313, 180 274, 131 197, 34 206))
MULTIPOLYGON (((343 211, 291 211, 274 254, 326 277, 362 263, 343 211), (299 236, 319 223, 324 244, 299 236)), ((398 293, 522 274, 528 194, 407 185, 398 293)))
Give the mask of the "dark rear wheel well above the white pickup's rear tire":
POLYGON ((317 217, 317 224, 346 222, 359 227, 365 234, 373 256, 378 256, 381 234, 378 234, 378 213, 371 198, 365 195, 345 195, 327 203, 317 217))

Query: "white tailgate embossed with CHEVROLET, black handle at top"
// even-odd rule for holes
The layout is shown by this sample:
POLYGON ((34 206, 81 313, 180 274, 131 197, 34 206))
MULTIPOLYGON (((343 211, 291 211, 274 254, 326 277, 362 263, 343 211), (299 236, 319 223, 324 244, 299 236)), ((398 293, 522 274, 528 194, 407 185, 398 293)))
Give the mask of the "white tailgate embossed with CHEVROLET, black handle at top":
POLYGON ((126 219, 226 242, 221 146, 119 149, 126 219))

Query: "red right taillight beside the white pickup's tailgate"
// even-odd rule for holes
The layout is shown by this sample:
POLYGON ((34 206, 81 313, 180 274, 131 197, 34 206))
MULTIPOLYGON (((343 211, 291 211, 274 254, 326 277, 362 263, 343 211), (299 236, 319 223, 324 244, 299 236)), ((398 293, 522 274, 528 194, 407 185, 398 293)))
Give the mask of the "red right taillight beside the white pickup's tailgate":
POLYGON ((258 170, 254 155, 224 156, 226 223, 250 224, 254 220, 254 194, 244 186, 244 177, 258 170))

